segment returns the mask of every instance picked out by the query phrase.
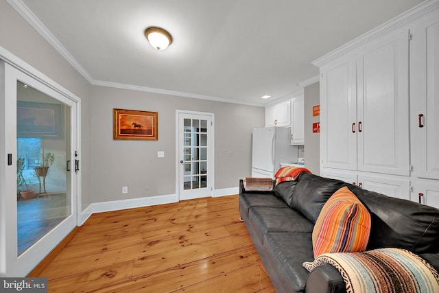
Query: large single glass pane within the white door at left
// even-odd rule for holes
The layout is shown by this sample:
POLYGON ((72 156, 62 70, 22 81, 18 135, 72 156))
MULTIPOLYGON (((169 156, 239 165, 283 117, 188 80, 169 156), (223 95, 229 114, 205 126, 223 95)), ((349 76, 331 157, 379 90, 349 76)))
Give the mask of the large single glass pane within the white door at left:
POLYGON ((24 82, 16 84, 17 254, 71 215, 70 110, 24 82))

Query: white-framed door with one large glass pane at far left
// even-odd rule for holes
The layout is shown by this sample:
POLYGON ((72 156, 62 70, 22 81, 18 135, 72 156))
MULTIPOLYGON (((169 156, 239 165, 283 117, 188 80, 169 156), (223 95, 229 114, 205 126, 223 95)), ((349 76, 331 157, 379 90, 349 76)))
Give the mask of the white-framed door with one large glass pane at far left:
POLYGON ((1 277, 27 275, 78 223, 78 163, 71 162, 79 160, 80 100, 38 71, 17 68, 0 60, 0 153, 8 158, 0 161, 1 277), (45 174, 37 172, 43 154, 54 159, 45 174))

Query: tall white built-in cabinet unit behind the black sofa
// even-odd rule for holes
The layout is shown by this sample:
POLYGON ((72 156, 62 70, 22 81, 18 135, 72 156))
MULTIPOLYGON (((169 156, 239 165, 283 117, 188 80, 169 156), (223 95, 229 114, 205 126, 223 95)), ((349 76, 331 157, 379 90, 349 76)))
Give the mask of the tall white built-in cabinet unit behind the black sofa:
POLYGON ((313 62, 320 173, 439 207, 439 1, 313 62))

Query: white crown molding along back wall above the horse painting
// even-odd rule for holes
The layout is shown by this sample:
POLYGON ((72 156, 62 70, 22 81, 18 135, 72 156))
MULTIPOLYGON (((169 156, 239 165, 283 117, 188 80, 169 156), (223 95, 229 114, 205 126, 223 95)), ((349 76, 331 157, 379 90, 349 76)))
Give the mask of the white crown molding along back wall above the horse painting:
POLYGON ((147 86, 135 86, 132 84, 119 84, 117 82, 105 82, 103 80, 94 80, 93 82, 91 82, 91 84, 93 84, 94 86, 106 86, 106 87, 112 87, 112 88, 116 88, 116 89, 128 89, 131 91, 144 91, 147 93, 160 93, 162 95, 175 95, 178 97, 191 97, 193 99, 206 99, 206 100, 214 101, 214 102, 242 104, 242 105, 246 105, 246 106, 257 106, 257 107, 264 106, 263 104, 244 102, 244 101, 240 101, 238 99, 226 99, 226 98, 222 98, 222 97, 212 97, 209 95, 198 95, 196 93, 184 93, 181 91, 169 91, 166 89, 155 89, 155 88, 150 88, 147 86))

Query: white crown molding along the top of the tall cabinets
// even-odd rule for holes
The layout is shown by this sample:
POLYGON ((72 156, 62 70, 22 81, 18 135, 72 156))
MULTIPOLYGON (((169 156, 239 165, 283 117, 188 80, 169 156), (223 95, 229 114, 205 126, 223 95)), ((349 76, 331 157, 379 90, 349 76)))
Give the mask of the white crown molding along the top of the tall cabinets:
POLYGON ((348 54, 349 52, 354 51, 366 43, 388 34, 389 32, 398 30, 399 28, 404 27, 405 25, 416 21, 420 17, 425 16, 426 14, 429 14, 437 9, 439 9, 439 0, 424 1, 423 3, 416 5, 414 8, 399 14, 399 16, 390 19, 390 21, 375 27, 369 32, 362 34, 358 38, 355 38, 345 45, 342 45, 328 54, 314 60, 311 62, 311 64, 316 67, 321 67, 322 65, 327 64, 328 62, 335 60, 340 56, 344 56, 344 54, 348 54))

